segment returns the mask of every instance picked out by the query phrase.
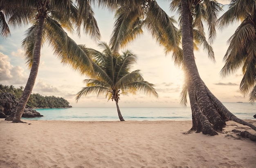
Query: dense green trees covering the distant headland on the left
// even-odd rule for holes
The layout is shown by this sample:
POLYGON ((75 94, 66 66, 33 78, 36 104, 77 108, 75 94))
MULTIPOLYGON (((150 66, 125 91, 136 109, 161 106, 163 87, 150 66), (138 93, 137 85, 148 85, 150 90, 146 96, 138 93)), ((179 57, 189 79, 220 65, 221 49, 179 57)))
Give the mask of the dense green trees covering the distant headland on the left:
MULTIPOLYGON (((2 85, 0 84, 0 93, 9 92, 14 94, 17 99, 21 98, 24 87, 20 86, 15 88, 13 85, 2 85)), ((67 108, 71 107, 69 102, 62 97, 55 96, 41 96, 40 94, 31 94, 29 101, 27 102, 29 108, 67 108)))

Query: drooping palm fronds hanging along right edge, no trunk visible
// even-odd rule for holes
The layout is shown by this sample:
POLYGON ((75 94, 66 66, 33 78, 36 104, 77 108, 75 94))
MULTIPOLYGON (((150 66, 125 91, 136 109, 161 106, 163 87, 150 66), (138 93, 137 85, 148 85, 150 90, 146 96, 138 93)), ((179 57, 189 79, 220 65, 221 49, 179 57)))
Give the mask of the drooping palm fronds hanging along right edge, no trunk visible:
POLYGON ((226 77, 242 67, 243 79, 240 92, 249 93, 249 101, 256 101, 256 2, 255 0, 232 0, 219 19, 220 28, 241 20, 234 34, 229 38, 229 47, 223 58, 225 65, 220 74, 226 77))

